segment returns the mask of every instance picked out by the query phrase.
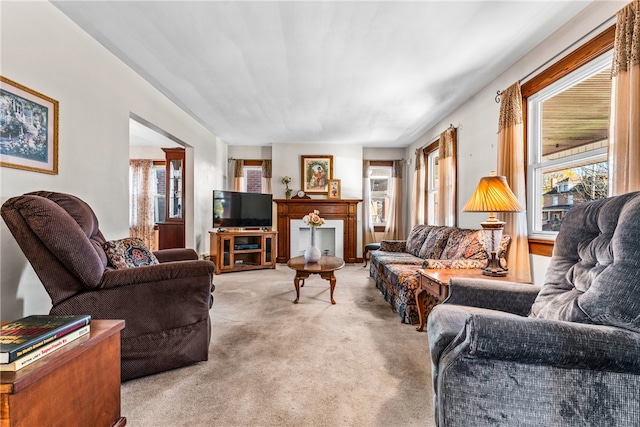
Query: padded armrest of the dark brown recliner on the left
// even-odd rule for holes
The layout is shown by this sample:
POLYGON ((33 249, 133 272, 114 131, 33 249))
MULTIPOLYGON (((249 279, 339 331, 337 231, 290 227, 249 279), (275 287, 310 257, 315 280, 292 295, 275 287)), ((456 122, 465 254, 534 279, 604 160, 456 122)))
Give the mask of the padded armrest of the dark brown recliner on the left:
POLYGON ((161 282, 166 280, 192 279, 208 277, 213 280, 215 264, 211 261, 175 261, 120 270, 108 269, 102 276, 99 288, 107 289, 140 283, 161 282))

